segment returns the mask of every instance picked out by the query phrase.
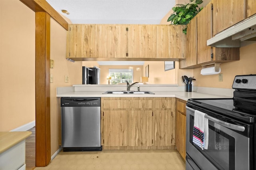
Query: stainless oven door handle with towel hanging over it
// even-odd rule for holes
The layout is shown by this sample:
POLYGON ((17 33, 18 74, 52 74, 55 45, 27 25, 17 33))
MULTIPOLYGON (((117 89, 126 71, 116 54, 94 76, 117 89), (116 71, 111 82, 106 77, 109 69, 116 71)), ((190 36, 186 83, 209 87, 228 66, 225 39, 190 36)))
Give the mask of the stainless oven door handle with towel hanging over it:
MULTIPOLYGON (((194 109, 191 109, 190 107, 187 107, 187 106, 186 106, 186 109, 188 109, 189 111, 191 111, 191 112, 192 112, 191 115, 194 116, 194 113, 195 113, 195 110, 194 110, 194 109)), ((218 123, 218 124, 220 124, 220 125, 222 125, 222 126, 224 126, 224 127, 226 127, 226 128, 230 128, 230 129, 233 129, 233 130, 238 130, 238 131, 240 131, 240 132, 244 132, 244 130, 245 130, 245 127, 243 127, 243 126, 239 126, 239 125, 234 125, 234 124, 231 124, 231 123, 227 123, 227 122, 221 121, 221 120, 219 120, 219 119, 216 119, 216 118, 214 118, 214 117, 211 117, 211 116, 209 116, 209 115, 205 115, 204 117, 207 118, 207 119, 209 119, 210 121, 213 121, 214 123, 218 123)))

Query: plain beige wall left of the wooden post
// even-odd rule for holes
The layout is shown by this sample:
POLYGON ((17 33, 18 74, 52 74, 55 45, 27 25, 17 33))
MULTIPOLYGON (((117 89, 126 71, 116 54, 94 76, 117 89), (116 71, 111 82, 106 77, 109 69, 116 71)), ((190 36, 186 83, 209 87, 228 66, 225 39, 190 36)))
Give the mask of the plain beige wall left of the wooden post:
POLYGON ((35 13, 0 0, 0 131, 35 120, 35 13))

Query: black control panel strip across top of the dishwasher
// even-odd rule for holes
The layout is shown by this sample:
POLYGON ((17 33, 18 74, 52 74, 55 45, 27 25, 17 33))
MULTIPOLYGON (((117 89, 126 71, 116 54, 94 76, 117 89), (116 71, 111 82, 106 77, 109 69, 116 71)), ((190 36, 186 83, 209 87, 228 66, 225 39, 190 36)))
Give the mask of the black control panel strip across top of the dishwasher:
POLYGON ((62 97, 60 99, 61 107, 100 107, 100 97, 62 97))

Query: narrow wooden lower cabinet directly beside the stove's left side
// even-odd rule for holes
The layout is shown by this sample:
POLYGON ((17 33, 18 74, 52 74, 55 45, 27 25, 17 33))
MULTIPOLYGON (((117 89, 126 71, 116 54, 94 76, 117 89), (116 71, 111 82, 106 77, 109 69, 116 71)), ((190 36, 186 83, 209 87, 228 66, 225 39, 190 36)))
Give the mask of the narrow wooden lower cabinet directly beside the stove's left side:
POLYGON ((176 148, 186 158, 186 101, 176 99, 176 148))

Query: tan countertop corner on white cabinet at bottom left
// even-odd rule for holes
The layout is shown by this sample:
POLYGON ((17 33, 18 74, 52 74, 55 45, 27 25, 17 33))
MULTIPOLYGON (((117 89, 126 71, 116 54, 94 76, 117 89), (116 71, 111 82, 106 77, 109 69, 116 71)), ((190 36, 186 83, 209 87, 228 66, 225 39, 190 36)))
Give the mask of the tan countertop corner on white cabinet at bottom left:
POLYGON ((0 153, 25 140, 31 133, 30 131, 0 132, 0 153))

